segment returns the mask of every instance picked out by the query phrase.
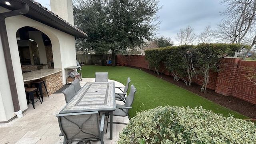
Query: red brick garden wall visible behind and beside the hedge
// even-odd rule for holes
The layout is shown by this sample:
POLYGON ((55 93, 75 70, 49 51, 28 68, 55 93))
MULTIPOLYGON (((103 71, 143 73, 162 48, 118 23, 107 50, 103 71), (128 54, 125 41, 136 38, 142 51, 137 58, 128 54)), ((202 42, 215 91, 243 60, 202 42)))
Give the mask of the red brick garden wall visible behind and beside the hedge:
MULTIPOLYGON (((148 61, 145 56, 117 55, 117 62, 127 63, 128 66, 136 66, 148 69, 148 61)), ((256 104, 256 85, 245 77, 249 70, 245 67, 256 68, 256 61, 244 61, 242 58, 224 58, 221 64, 222 71, 209 72, 209 82, 207 88, 224 96, 234 96, 242 100, 256 104)), ((170 73, 161 64, 159 72, 170 73)), ((202 80, 202 76, 198 77, 202 80)), ((193 82, 202 86, 202 82, 193 79, 193 82)))

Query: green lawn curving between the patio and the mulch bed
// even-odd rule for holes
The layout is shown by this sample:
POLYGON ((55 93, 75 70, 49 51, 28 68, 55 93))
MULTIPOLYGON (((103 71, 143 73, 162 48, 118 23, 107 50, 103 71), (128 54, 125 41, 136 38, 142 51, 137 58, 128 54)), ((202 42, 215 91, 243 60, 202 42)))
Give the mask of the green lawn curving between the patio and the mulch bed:
MULTIPOLYGON (((234 115, 236 118, 248 119, 237 112, 227 109, 210 100, 202 98, 197 94, 189 92, 165 80, 152 76, 142 70, 125 66, 82 66, 83 78, 94 78, 95 72, 108 72, 108 79, 116 80, 126 84, 127 78, 137 89, 132 109, 129 111, 131 117, 136 112, 155 108, 156 106, 180 106, 196 107, 202 106, 206 110, 223 114, 223 116, 234 115)), ((128 91, 129 92, 129 91, 128 91)))

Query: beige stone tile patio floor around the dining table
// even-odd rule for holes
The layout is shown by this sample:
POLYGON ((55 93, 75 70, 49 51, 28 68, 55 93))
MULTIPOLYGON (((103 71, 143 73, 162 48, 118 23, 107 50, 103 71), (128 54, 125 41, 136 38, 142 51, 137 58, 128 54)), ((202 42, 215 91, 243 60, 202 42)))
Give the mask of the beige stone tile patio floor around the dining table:
MULTIPOLYGON (((84 86, 86 82, 94 81, 95 78, 82 78, 80 85, 84 86)), ((115 81, 115 86, 124 86, 124 84, 115 81)), ((118 91, 116 90, 116 92, 118 91)), ((51 94, 50 98, 44 97, 42 104, 39 101, 35 103, 35 109, 32 104, 29 104, 28 109, 23 112, 22 118, 15 118, 8 123, 0 123, 0 144, 62 144, 64 137, 59 136, 60 128, 56 114, 65 105, 64 94, 51 94)), ((127 116, 113 116, 113 122, 128 121, 127 116)), ((109 139, 109 128, 107 134, 104 130, 104 143, 116 144, 118 134, 124 127, 123 124, 113 124, 112 140, 109 139)), ((106 122, 104 128, 106 129, 106 122)), ((92 144, 100 144, 100 141, 92 142, 92 144)))

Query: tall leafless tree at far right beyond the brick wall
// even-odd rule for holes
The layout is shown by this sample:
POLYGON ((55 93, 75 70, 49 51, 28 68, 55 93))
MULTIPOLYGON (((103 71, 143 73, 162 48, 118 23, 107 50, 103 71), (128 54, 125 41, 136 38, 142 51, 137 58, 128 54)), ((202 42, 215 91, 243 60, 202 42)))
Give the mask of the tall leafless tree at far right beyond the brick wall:
POLYGON ((256 0, 222 0, 221 4, 227 8, 221 12, 224 18, 217 27, 219 38, 224 42, 254 46, 256 0))

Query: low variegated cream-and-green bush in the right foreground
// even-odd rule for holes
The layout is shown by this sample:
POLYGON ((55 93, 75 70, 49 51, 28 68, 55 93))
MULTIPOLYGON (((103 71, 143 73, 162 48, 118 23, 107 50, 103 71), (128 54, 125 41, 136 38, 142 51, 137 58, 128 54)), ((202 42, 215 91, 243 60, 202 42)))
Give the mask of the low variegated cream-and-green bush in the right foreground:
POLYGON ((256 144, 256 126, 202 107, 158 106, 138 112, 118 144, 256 144))

